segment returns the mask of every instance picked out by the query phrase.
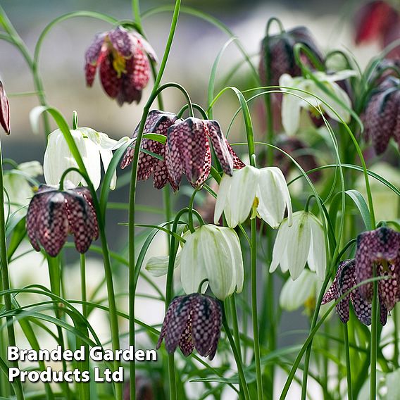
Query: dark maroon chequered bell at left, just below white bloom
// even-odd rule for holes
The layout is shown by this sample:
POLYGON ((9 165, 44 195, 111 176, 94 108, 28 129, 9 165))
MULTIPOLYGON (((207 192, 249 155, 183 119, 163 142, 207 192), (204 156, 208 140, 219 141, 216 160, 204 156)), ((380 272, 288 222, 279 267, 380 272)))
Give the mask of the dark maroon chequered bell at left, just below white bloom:
POLYGON ((68 233, 74 236, 80 253, 85 253, 99 237, 96 212, 87 187, 60 191, 40 185, 30 201, 26 227, 33 248, 40 251, 42 246, 52 257, 60 252, 68 233))

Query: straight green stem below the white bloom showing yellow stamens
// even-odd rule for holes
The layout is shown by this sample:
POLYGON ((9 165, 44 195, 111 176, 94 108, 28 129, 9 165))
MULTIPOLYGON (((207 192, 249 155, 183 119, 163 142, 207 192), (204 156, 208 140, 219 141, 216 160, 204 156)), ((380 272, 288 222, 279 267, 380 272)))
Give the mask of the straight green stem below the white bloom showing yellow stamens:
POLYGON ((257 399, 263 399, 263 380, 261 377, 260 339, 258 337, 257 312, 257 220, 251 220, 251 318, 253 320, 254 360, 256 363, 257 399))

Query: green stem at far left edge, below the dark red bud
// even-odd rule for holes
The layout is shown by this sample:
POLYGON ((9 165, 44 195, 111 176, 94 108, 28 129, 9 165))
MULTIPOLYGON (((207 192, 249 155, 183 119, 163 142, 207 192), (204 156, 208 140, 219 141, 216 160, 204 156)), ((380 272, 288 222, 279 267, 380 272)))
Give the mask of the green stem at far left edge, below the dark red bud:
MULTIPOLYGON (((6 239, 6 220, 4 217, 4 183, 3 183, 3 161, 1 160, 1 144, 0 144, 0 260, 1 260, 1 285, 3 290, 10 289, 10 278, 8 276, 8 257, 7 257, 7 239, 6 239)), ((11 311, 13 306, 11 303, 11 294, 4 294, 4 308, 11 311)), ((15 346, 15 332, 13 325, 13 317, 7 317, 7 334, 8 345, 15 346)), ((18 368, 18 361, 12 361, 11 365, 18 368)), ((23 399, 23 388, 18 380, 15 385, 15 396, 17 399, 23 399)))

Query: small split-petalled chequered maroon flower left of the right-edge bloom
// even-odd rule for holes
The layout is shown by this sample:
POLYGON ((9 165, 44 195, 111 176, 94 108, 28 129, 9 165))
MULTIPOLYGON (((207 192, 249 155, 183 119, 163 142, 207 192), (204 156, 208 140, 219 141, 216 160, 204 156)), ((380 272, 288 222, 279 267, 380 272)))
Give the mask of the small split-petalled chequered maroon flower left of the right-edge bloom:
MULTIPOLYGON (((342 261, 337 268, 337 273, 332 285, 323 296, 322 304, 330 303, 332 300, 337 300, 343 296, 352 287, 356 286, 354 259, 342 261)), ((342 323, 349 320, 349 301, 353 304, 354 313, 358 320, 365 325, 371 323, 372 307, 367 301, 363 300, 358 288, 351 290, 344 298, 336 305, 336 311, 342 323)))

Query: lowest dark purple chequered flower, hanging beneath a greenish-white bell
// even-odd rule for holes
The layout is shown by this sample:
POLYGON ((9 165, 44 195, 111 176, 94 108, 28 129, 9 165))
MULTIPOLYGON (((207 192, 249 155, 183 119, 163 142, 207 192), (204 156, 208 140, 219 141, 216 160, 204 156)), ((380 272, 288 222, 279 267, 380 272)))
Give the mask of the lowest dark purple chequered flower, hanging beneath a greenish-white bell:
POLYGON ((180 346, 184 356, 196 349, 201 356, 212 360, 220 339, 221 323, 222 309, 218 300, 198 293, 177 296, 165 313, 156 349, 165 339, 168 353, 180 346))

